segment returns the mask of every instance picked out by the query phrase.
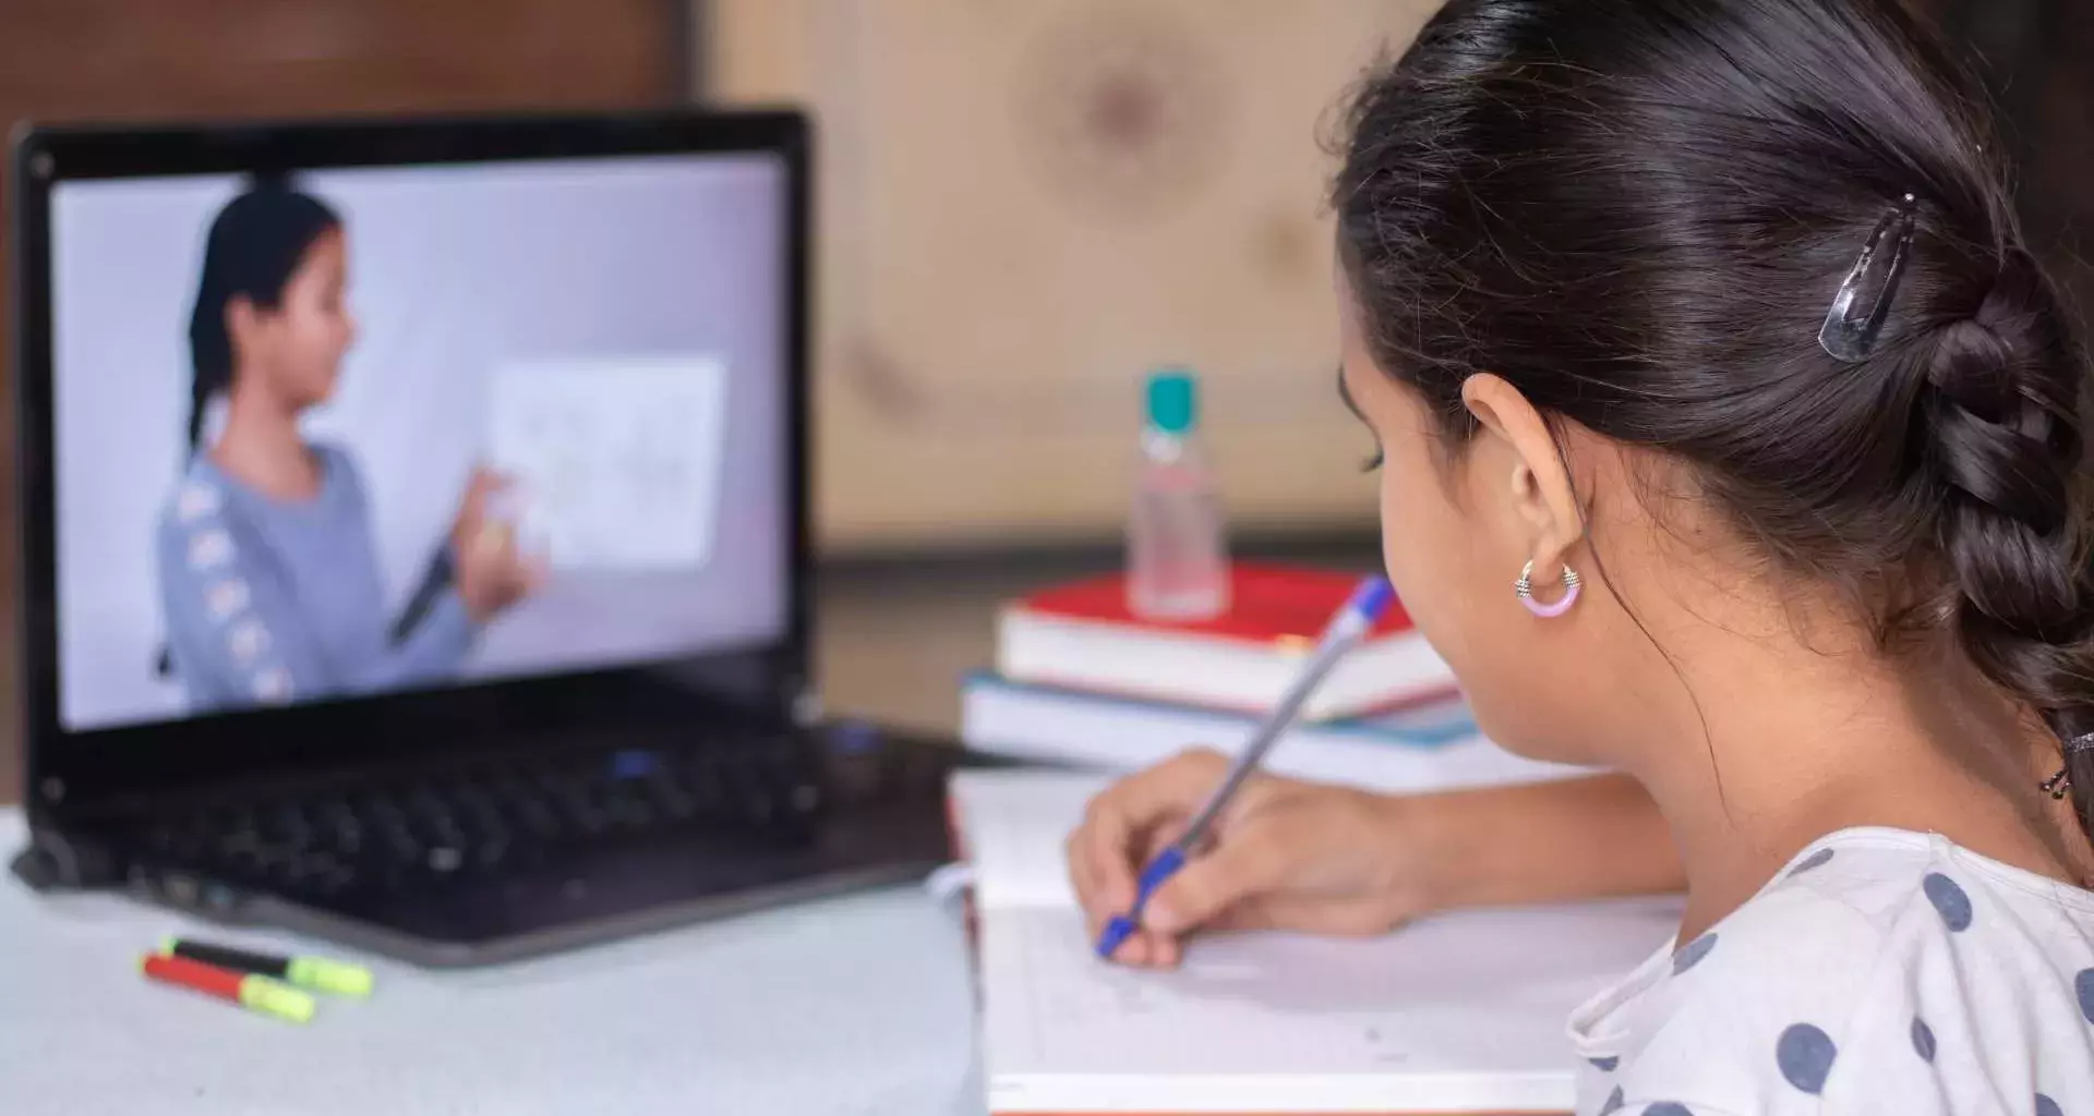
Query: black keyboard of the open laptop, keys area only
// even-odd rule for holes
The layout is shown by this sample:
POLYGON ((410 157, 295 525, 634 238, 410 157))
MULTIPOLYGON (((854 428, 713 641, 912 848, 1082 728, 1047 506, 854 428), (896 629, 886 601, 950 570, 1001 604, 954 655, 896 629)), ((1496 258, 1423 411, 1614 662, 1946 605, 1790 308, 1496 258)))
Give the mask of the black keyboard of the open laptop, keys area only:
POLYGON ((477 762, 413 779, 262 798, 159 823, 153 858, 318 898, 463 884, 676 831, 806 827, 817 764, 779 737, 477 762))

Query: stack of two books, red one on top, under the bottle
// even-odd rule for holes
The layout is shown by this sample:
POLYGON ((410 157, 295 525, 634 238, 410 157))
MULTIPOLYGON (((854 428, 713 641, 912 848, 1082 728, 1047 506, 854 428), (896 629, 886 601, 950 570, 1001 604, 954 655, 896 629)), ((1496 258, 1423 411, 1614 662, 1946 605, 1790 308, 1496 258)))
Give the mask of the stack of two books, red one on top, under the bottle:
MULTIPOLYGON (((1233 752, 1300 670, 1357 574, 1242 563, 1229 611, 1137 618, 1120 576, 1047 588, 997 620, 997 668, 965 680, 961 735, 1001 756, 1135 771, 1233 752)), ((1476 733, 1453 672, 1401 607, 1317 689, 1267 766, 1409 791, 1550 779, 1476 733)))

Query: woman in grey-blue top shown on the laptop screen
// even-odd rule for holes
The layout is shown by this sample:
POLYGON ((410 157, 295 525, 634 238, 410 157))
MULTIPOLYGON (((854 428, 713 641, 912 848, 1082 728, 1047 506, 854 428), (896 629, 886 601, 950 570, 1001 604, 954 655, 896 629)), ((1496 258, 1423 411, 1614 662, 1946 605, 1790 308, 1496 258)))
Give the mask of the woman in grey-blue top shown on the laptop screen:
POLYGON ((356 463, 297 425, 333 396, 354 339, 346 281, 341 218, 287 184, 255 184, 211 222, 188 467, 157 540, 168 666, 197 710, 440 683, 540 578, 488 515, 498 482, 482 471, 421 593, 387 618, 356 463), (205 442, 214 402, 224 423, 205 442))

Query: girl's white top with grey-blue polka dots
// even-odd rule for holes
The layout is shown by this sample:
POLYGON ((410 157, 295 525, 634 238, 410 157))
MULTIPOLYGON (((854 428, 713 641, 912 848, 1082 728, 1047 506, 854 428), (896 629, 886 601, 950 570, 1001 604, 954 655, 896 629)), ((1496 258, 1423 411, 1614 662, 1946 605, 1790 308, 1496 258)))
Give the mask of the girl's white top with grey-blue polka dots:
POLYGON ((1583 1116, 2094 1116, 2094 892, 1843 829, 1570 1039, 1583 1116))

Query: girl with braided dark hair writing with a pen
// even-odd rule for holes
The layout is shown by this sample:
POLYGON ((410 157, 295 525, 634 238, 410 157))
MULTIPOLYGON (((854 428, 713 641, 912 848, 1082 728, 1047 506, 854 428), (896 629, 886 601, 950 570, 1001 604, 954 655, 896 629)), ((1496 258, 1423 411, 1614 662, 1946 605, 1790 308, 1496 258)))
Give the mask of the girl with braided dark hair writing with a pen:
MULTIPOLYGON (((1269 779, 1122 959, 1684 875, 1579 1112, 2094 1114, 2088 377, 1975 105, 1893 0, 1453 0, 1365 84, 1384 561, 1493 739, 1623 775, 1269 779)), ((1093 804, 1093 917, 1217 766, 1093 804)))

